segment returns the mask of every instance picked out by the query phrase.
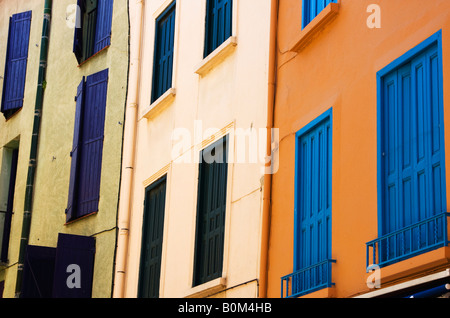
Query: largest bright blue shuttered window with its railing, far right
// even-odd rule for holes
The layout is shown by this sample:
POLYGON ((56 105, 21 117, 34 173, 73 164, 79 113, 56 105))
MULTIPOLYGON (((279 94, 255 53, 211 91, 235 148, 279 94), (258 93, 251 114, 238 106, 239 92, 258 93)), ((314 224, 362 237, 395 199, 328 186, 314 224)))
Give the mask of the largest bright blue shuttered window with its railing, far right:
POLYGON ((447 241, 440 34, 378 73, 381 224, 378 240, 368 243, 378 252, 374 264, 447 241))

